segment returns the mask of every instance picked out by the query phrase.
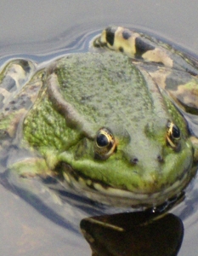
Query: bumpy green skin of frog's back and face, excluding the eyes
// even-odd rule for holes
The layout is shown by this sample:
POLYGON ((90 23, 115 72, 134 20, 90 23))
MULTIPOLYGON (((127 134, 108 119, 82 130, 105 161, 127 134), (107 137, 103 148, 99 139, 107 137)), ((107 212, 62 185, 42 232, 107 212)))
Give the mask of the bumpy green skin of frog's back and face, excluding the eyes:
POLYGON ((47 75, 45 89, 25 118, 24 137, 45 156, 49 168, 65 162, 77 176, 140 195, 171 187, 190 169, 193 149, 183 117, 167 96, 161 96, 153 79, 129 65, 127 57, 69 55, 47 73, 57 74, 60 94, 82 117, 87 131, 80 124, 68 127, 71 120, 54 109, 47 75), (182 134, 178 152, 167 145, 168 120, 182 134), (116 137, 117 150, 107 160, 96 160, 94 137, 103 126, 116 137), (133 159, 138 163, 133 165, 133 159))

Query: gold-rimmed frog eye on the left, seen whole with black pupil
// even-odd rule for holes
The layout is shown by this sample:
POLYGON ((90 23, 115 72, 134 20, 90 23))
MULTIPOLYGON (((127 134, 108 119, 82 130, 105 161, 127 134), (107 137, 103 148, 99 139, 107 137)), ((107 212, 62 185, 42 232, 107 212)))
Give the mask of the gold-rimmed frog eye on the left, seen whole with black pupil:
POLYGON ((105 160, 116 150, 116 140, 110 130, 101 128, 96 134, 94 141, 95 158, 105 160))

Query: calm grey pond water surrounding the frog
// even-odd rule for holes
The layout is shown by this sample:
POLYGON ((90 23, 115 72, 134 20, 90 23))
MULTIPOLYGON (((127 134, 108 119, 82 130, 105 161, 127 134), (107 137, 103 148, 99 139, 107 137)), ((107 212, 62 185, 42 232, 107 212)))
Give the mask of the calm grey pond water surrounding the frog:
MULTIPOLYGON (((89 39, 111 24, 150 32, 198 55, 196 4, 195 0, 2 1, 0 64, 16 57, 41 63, 64 55, 68 49, 86 51, 89 39)), ((42 190, 37 180, 31 185, 42 190)), ((184 222, 179 256, 197 255, 197 186, 194 180, 186 200, 172 211, 184 222)), ((39 195, 30 202, 22 189, 14 193, 6 183, 0 185, 0 195, 1 255, 91 255, 78 224, 81 218, 105 209, 94 205, 85 209, 86 202, 75 205, 79 198, 70 195, 64 206, 61 201, 54 205, 46 198, 43 207, 39 195), (71 221, 74 210, 75 221, 71 221)))

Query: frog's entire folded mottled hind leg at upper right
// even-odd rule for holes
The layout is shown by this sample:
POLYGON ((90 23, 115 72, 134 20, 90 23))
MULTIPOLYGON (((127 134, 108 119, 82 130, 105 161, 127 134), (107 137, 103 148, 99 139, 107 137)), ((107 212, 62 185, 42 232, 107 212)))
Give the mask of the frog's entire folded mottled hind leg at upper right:
POLYGON ((107 27, 93 44, 98 48, 121 51, 140 61, 139 64, 150 73, 161 88, 170 93, 180 107, 182 105, 186 112, 197 114, 198 61, 192 56, 189 57, 171 48, 170 45, 157 41, 156 38, 132 32, 122 26, 107 27), (151 65, 148 62, 151 62, 151 65), (160 65, 155 67, 154 63, 160 65))

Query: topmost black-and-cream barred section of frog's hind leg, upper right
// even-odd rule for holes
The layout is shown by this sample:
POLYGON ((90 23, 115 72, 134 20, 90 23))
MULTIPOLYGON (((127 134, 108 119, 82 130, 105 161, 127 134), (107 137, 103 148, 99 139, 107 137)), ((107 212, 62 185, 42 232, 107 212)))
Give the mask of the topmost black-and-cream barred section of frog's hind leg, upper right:
POLYGON ((107 27, 93 42, 94 47, 120 51, 135 60, 150 61, 164 67, 184 70, 197 75, 197 60, 173 49, 156 38, 130 31, 122 26, 107 27))

